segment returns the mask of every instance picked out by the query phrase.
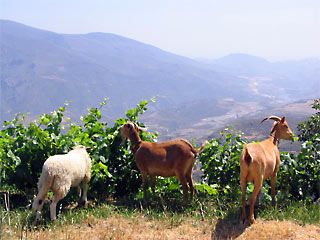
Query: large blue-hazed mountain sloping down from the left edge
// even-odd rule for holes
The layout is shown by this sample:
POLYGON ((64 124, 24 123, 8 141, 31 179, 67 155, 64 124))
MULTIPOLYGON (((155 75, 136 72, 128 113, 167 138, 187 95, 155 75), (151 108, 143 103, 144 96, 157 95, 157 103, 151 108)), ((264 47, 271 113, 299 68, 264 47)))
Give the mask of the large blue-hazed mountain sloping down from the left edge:
POLYGON ((251 98, 236 77, 214 66, 108 33, 57 34, 1 20, 1 116, 39 114, 72 101, 81 114, 109 97, 107 115, 162 96, 165 109, 185 101, 251 98), (241 91, 239 91, 241 89, 241 91))

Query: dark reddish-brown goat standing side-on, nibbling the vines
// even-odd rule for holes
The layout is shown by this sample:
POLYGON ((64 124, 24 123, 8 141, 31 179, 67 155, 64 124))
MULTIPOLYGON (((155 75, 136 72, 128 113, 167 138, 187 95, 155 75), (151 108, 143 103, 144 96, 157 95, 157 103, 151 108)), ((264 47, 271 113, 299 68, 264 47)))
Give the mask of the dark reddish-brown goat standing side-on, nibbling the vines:
POLYGON ((143 199, 146 203, 146 190, 148 175, 151 176, 151 189, 155 194, 156 176, 177 176, 183 189, 183 199, 188 201, 188 189, 191 191, 191 201, 194 194, 192 169, 196 156, 203 150, 204 145, 198 150, 184 139, 174 139, 163 143, 142 141, 139 130, 144 131, 133 122, 127 122, 120 127, 123 139, 129 138, 132 151, 135 155, 137 166, 142 174, 143 199))

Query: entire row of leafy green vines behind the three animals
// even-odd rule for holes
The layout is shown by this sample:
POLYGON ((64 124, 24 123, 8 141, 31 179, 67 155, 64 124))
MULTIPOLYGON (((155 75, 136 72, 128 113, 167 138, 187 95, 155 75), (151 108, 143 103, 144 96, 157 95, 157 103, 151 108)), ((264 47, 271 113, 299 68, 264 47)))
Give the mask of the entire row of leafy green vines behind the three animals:
MULTIPOLYGON (((91 108, 81 117, 81 124, 70 123, 64 116, 67 105, 50 114, 41 115, 37 121, 26 123, 24 114, 6 121, 0 131, 0 186, 14 187, 24 193, 33 194, 41 174, 44 161, 51 155, 66 153, 77 144, 90 146, 92 179, 89 184, 89 198, 104 200, 126 196, 139 200, 142 197, 141 175, 130 150, 129 141, 122 142, 118 129, 127 121, 138 122, 139 116, 147 109, 147 101, 128 110, 125 118, 119 118, 110 126, 102 121, 101 108, 91 108)), ((314 107, 319 109, 319 101, 314 107)), ((300 129, 316 128, 319 114, 312 116, 308 124, 300 129), (309 124, 312 122, 312 124, 309 124)), ((284 152, 277 179, 277 198, 314 201, 320 192, 320 137, 312 131, 301 131, 309 136, 301 145, 298 154, 284 152), (294 184, 293 184, 294 183, 294 184)), ((156 141, 154 133, 142 132, 143 140, 156 141)), ((202 182, 195 183, 196 199, 208 198, 217 204, 239 202, 239 158, 246 142, 235 130, 221 132, 221 137, 211 139, 199 155, 203 172, 202 182)), ((3 187, 2 187, 3 188, 3 187)), ((248 185, 248 191, 252 191, 248 185)), ((263 185, 264 197, 270 201, 269 181, 263 185)), ((149 190, 149 194, 150 194, 149 190)), ((182 200, 181 185, 176 178, 157 179, 156 195, 162 200, 182 200)))

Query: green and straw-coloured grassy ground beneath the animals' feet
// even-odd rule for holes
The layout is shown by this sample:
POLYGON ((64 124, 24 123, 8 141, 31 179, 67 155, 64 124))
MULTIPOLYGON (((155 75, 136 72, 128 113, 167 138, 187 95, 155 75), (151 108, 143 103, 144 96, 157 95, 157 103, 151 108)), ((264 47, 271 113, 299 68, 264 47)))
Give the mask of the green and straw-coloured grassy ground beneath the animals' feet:
MULTIPOLYGON (((252 235, 248 235, 248 230, 257 232, 260 225, 263 225, 263 228, 276 229, 275 234, 280 229, 287 229, 279 228, 280 225, 277 223, 279 221, 290 229, 298 229, 299 225, 308 227, 308 224, 313 224, 315 234, 318 233, 320 236, 318 203, 288 201, 279 203, 275 208, 271 204, 265 204, 257 208, 258 224, 250 228, 239 224, 239 203, 218 205, 214 199, 211 201, 198 199, 187 207, 182 207, 181 201, 175 199, 152 201, 147 207, 143 207, 139 201, 121 199, 102 204, 90 202, 90 207, 87 209, 68 206, 57 211, 59 218, 54 223, 49 220, 48 204, 45 205, 43 218, 38 223, 34 222, 35 213, 31 210, 19 208, 9 213, 2 211, 1 238, 88 240, 210 239, 213 236, 218 238, 250 236, 247 238, 250 239, 252 235)), ((272 233, 271 230, 269 232, 272 233)), ((279 234, 284 236, 283 239, 291 236, 289 230, 283 230, 279 234)), ((268 239, 268 236, 265 239, 268 239)))

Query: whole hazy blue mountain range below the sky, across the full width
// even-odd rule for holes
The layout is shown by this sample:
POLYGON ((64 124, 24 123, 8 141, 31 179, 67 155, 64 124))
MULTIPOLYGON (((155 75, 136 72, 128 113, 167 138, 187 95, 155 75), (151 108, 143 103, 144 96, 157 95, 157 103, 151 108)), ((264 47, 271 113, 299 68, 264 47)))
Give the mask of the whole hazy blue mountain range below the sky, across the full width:
POLYGON ((219 116, 243 117, 320 95, 320 59, 269 62, 231 54, 204 61, 115 34, 59 34, 8 20, 0 20, 0 46, 1 122, 67 101, 79 119, 105 97, 103 116, 112 120, 158 96, 144 119, 171 137, 174 129, 219 116))

